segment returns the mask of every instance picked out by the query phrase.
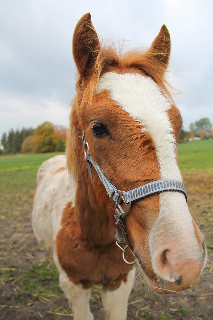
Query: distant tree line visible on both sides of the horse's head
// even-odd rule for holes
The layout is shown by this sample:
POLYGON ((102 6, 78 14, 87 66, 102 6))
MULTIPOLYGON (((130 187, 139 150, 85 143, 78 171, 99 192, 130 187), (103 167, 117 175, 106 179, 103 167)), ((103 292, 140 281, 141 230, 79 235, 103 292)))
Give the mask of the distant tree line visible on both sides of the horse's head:
MULTIPOLYGON (((209 118, 202 118, 191 123, 190 131, 180 130, 179 140, 190 140, 194 137, 201 139, 213 138, 212 124, 209 118)), ((11 129, 8 134, 4 132, 1 138, 0 154, 19 152, 54 152, 65 151, 67 128, 54 126, 51 122, 44 122, 33 128, 22 128, 22 130, 11 129)))

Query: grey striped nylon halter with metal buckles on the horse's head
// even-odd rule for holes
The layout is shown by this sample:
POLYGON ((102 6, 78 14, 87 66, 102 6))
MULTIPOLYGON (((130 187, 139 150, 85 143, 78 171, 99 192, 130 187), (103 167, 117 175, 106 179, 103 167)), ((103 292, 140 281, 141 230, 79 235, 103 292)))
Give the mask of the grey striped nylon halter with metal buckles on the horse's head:
MULTIPOLYGON (((92 158, 90 152, 89 152, 89 145, 88 142, 85 140, 85 136, 83 134, 82 137, 80 137, 83 141, 83 147, 84 147, 84 159, 87 163, 87 169, 88 174, 90 177, 90 180, 93 185, 93 172, 92 172, 92 165, 95 168, 100 180, 102 181, 107 194, 112 200, 115 202, 115 224, 120 227, 121 233, 118 232, 118 229, 114 227, 114 237, 116 240, 116 244, 118 247, 123 251, 123 259, 127 264, 133 264, 133 262, 128 262, 125 259, 125 252, 128 249, 128 246, 130 246, 130 250, 132 251, 131 245, 129 244, 127 235, 126 235, 126 228, 124 223, 124 218, 127 216, 129 209, 131 207, 131 202, 139 199, 146 198, 148 196, 156 195, 163 191, 176 191, 181 192, 184 194, 187 202, 187 195, 186 190, 182 182, 177 180, 156 180, 153 182, 149 182, 144 184, 143 186, 140 186, 138 188, 134 188, 129 191, 121 191, 118 190, 114 184, 103 174, 101 168, 97 164, 97 162, 92 158), (125 209, 123 209, 122 204, 125 206, 125 209), (127 244, 124 248, 120 246, 120 244, 127 244)), ((134 255, 134 253, 133 253, 134 255)))

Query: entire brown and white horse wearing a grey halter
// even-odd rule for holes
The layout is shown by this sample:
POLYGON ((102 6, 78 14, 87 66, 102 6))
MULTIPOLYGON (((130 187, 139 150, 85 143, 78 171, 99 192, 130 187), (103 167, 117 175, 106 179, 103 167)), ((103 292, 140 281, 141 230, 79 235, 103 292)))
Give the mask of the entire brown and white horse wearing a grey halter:
POLYGON ((101 44, 90 13, 75 27, 66 156, 39 168, 32 212, 75 320, 94 319, 94 284, 107 319, 125 320, 137 267, 160 294, 195 285, 205 267, 177 159, 182 118, 165 76, 170 50, 165 25, 149 49, 128 52, 101 44))

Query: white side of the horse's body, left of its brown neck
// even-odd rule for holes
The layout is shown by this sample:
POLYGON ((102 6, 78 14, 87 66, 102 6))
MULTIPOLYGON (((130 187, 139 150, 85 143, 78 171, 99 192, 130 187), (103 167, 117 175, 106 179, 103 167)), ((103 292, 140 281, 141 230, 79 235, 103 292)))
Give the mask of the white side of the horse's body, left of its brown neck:
POLYGON ((63 209, 71 201, 74 206, 76 183, 66 168, 66 156, 54 156, 40 166, 37 173, 37 189, 34 197, 32 226, 38 243, 53 253, 55 237, 61 228, 63 209))

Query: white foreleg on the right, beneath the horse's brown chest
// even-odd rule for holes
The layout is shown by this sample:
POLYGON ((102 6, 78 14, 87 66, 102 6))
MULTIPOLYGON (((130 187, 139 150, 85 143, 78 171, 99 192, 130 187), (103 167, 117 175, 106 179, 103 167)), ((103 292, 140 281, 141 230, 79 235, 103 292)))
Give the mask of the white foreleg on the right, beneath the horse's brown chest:
POLYGON ((114 291, 102 291, 102 303, 107 320, 126 320, 127 302, 133 287, 135 269, 129 271, 127 281, 114 291))

